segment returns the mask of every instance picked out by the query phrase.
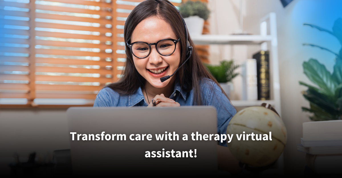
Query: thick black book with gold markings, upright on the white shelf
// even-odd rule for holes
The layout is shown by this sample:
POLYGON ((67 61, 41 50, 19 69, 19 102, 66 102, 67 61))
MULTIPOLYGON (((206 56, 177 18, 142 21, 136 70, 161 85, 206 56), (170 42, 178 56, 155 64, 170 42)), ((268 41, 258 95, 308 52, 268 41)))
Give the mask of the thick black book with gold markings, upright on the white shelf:
POLYGON ((253 59, 257 59, 258 100, 269 100, 269 51, 259 51, 253 59))

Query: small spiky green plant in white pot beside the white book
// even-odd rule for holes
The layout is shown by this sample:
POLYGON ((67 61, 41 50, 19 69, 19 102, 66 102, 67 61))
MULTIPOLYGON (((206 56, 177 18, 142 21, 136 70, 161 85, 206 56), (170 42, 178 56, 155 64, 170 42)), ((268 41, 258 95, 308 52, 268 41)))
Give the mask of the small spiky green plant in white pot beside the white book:
POLYGON ((223 91, 229 96, 231 88, 233 87, 232 79, 239 75, 234 71, 240 66, 235 65, 233 60, 221 61, 220 65, 206 64, 209 72, 221 85, 223 91))

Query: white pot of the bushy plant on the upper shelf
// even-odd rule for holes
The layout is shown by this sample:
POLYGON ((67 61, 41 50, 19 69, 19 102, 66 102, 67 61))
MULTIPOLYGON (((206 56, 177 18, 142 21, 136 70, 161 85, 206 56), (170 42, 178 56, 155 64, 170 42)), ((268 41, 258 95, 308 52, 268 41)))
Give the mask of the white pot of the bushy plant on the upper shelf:
POLYGON ((204 19, 200 18, 199 16, 190 16, 184 18, 186 27, 190 33, 190 36, 197 36, 201 35, 203 32, 204 26, 204 19))

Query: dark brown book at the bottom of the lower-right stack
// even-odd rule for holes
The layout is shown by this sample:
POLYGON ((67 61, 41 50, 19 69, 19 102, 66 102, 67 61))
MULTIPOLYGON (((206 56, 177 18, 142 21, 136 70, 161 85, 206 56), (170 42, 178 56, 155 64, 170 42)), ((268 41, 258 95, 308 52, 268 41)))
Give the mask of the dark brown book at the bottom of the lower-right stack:
POLYGON ((320 155, 306 153, 305 161, 316 174, 342 174, 342 154, 320 155))

